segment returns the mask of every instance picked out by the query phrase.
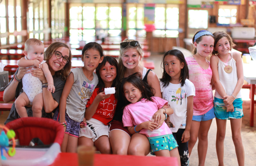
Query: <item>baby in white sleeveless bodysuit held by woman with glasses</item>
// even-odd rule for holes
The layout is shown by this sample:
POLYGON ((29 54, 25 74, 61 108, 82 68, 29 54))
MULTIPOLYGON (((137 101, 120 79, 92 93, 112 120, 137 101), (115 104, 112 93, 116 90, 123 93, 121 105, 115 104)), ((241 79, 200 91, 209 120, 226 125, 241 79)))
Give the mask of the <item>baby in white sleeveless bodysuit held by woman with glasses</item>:
POLYGON ((42 86, 41 80, 32 76, 31 73, 25 74, 22 78, 23 92, 15 100, 15 108, 20 117, 28 117, 25 106, 32 104, 33 117, 42 117, 42 109, 44 103, 42 88, 46 87, 52 93, 55 91, 51 72, 49 71, 48 65, 44 61, 44 44, 38 39, 28 39, 25 42, 24 55, 25 57, 22 57, 18 61, 18 66, 34 66, 36 68, 41 68, 44 72, 44 76, 48 82, 48 85, 44 84, 42 86))

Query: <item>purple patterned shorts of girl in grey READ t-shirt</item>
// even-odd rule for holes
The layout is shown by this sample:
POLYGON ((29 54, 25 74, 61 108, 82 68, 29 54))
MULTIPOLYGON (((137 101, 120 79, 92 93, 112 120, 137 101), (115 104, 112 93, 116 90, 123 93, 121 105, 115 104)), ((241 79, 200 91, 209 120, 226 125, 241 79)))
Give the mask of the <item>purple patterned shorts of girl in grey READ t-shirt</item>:
MULTIPOLYGON (((53 118, 53 120, 60 122, 59 117, 60 117, 59 109, 56 109, 52 118, 53 118)), ((65 120, 67 122, 65 133, 78 138, 79 131, 80 131, 80 122, 77 122, 77 121, 71 119, 67 113, 65 113, 65 120)))

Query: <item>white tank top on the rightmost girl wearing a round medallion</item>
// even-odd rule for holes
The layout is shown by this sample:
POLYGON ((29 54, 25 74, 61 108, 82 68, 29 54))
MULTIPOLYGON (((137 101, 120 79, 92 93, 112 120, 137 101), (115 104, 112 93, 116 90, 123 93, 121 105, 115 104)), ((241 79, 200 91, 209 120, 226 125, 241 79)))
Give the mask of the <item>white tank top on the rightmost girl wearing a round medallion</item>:
MULTIPOLYGON (((220 83, 221 83, 222 87, 225 89, 226 94, 230 96, 234 92, 234 89, 235 89, 236 83, 237 83, 237 79, 238 79, 237 71, 236 71, 236 61, 233 59, 232 54, 231 54, 231 60, 228 61, 228 65, 230 65, 233 68, 233 70, 231 73, 226 73, 224 71, 224 67, 226 66, 226 63, 223 62, 219 57, 218 57, 218 59, 219 59, 218 72, 219 72, 220 83)), ((222 97, 217 92, 217 90, 215 91, 214 97, 222 99, 222 97)), ((242 98, 241 90, 235 97, 242 98)))

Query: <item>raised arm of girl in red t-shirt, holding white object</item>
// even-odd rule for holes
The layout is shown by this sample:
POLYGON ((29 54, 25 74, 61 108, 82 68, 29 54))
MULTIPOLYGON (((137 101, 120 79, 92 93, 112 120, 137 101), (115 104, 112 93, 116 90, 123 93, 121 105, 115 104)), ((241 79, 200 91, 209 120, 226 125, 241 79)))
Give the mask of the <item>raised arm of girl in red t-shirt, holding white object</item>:
POLYGON ((100 92, 99 94, 97 94, 92 104, 85 109, 85 114, 84 114, 85 119, 86 120, 91 119, 92 116, 95 114, 100 102, 102 100, 109 98, 110 96, 111 94, 105 94, 104 92, 100 92))

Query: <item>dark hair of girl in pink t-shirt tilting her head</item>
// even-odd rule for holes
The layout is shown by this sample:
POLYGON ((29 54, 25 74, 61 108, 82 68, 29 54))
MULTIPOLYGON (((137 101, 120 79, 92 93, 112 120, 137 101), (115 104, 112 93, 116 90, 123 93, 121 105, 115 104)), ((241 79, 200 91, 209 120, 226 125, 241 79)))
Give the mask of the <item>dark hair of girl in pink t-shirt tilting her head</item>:
POLYGON ((129 77, 121 79, 121 89, 122 89, 122 94, 123 94, 123 99, 125 101, 125 105, 130 104, 130 102, 127 101, 127 99, 124 96, 124 84, 125 83, 131 83, 134 87, 138 88, 141 92, 141 98, 145 98, 148 101, 152 101, 151 97, 154 96, 154 89, 150 87, 147 83, 143 82, 142 79, 140 78, 140 73, 136 72, 129 77))

